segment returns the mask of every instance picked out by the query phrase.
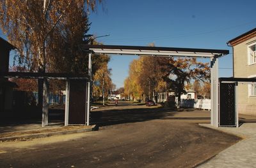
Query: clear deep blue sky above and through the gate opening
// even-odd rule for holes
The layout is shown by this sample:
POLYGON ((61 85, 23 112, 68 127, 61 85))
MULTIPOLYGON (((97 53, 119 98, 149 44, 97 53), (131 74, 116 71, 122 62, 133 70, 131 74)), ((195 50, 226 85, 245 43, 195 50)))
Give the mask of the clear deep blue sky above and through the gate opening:
MULTIPOLYGON (((232 48, 227 41, 256 27, 256 1, 108 0, 90 13, 90 33, 110 34, 105 45, 212 48, 230 50, 220 59, 220 76, 232 76, 232 48)), ((109 67, 117 87, 124 85, 134 56, 111 56, 109 67)))

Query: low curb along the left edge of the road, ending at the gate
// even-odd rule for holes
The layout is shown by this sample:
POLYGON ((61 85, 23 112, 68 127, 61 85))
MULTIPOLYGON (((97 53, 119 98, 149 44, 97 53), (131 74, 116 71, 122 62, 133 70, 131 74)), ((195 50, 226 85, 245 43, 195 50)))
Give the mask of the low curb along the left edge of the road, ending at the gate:
POLYGON ((91 128, 86 128, 86 129, 63 130, 63 131, 57 131, 57 132, 44 132, 44 133, 24 135, 24 136, 1 137, 0 142, 27 141, 30 139, 36 139, 36 138, 41 138, 41 137, 60 136, 60 135, 65 135, 65 134, 76 134, 76 133, 81 133, 81 132, 90 132, 90 131, 94 131, 94 130, 97 130, 96 125, 92 125, 91 128))

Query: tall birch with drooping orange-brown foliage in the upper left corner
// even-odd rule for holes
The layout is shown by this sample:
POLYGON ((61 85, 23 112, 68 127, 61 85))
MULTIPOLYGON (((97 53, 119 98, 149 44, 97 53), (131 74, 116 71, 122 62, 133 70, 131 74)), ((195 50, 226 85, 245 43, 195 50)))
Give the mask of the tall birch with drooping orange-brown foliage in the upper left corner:
MULTIPOLYGON (((17 47, 19 63, 29 67, 30 71, 45 73, 56 56, 51 54, 50 48, 55 45, 51 40, 76 32, 76 29, 69 29, 67 34, 62 31, 74 17, 84 21, 77 26, 82 25, 83 35, 86 34, 86 11, 94 11, 98 2, 101 0, 3 0, 0 1, 0 26, 10 43, 17 47)), ((42 80, 38 81, 38 102, 42 102, 42 80)))

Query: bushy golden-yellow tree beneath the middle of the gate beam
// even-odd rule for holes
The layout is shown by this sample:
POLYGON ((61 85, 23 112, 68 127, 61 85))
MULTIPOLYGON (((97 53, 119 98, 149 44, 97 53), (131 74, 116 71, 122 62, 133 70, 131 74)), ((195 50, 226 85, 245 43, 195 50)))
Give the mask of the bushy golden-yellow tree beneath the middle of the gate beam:
POLYGON ((125 95, 133 99, 154 99, 156 92, 163 92, 166 82, 157 57, 139 57, 129 66, 129 76, 125 79, 125 95))

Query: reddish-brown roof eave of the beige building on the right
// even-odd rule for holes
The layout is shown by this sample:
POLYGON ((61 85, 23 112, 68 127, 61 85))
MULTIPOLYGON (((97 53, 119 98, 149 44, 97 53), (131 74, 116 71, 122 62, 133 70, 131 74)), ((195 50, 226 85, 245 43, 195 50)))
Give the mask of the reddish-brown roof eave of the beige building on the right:
POLYGON ((239 45, 240 43, 243 43, 247 39, 254 38, 256 37, 256 28, 245 32, 244 34, 241 34, 240 36, 237 36, 234 39, 231 39, 230 41, 227 42, 227 45, 235 46, 239 45))

